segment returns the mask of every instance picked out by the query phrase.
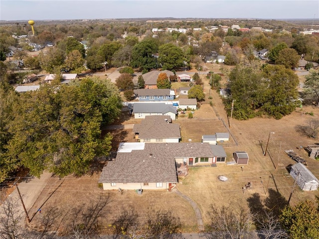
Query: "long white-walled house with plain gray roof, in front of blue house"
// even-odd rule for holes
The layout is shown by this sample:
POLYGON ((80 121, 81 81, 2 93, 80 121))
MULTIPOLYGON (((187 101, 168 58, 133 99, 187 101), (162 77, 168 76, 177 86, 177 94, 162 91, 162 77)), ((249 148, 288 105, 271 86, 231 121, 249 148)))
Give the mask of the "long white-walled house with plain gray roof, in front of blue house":
POLYGON ((174 106, 165 103, 135 103, 133 114, 135 119, 145 119, 147 115, 169 115, 175 120, 177 110, 174 106))

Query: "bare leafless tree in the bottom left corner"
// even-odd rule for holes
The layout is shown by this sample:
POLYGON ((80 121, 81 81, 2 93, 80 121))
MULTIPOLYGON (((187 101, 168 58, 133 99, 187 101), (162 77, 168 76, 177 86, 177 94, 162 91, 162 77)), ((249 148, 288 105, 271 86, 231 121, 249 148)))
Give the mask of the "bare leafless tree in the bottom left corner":
POLYGON ((25 239, 28 231, 21 226, 23 212, 18 210, 18 202, 8 198, 0 210, 0 235, 2 239, 25 239))

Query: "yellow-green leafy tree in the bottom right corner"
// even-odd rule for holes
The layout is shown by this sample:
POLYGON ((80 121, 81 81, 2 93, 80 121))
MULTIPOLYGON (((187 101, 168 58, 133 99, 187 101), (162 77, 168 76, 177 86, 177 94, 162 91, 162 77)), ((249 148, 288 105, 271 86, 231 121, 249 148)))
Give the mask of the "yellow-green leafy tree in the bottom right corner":
POLYGON ((319 198, 316 199, 317 205, 307 200, 282 211, 280 222, 291 239, 319 238, 319 198))

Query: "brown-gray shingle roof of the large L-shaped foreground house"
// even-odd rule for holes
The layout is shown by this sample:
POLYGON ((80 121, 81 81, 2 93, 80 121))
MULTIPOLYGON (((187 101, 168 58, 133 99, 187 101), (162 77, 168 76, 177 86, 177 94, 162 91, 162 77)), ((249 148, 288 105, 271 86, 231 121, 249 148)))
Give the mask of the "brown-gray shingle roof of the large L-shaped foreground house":
POLYGON ((174 158, 212 156, 208 143, 146 143, 144 150, 118 153, 103 168, 99 183, 177 183, 174 158))

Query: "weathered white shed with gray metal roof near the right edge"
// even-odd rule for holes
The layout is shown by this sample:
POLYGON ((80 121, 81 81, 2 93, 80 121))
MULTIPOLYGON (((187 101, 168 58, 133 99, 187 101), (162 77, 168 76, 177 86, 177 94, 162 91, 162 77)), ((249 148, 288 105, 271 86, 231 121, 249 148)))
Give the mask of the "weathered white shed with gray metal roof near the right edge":
POLYGON ((319 186, 319 180, 302 163, 297 163, 291 167, 290 175, 296 180, 296 183, 303 191, 316 191, 319 186))

